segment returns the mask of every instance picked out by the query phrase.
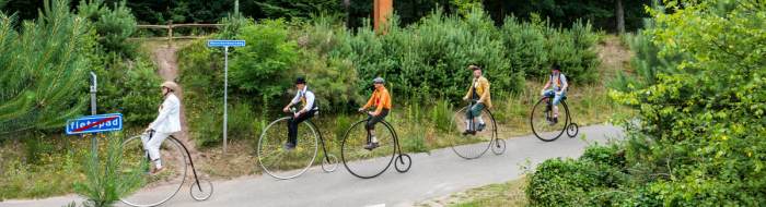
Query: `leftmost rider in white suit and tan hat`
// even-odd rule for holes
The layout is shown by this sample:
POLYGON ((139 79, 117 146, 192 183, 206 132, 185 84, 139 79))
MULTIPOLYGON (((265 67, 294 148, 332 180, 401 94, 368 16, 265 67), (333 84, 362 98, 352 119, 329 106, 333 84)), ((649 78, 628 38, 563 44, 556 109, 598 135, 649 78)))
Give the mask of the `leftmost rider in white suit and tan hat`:
POLYGON ((173 82, 165 82, 160 86, 162 86, 162 95, 165 97, 165 101, 160 106, 160 115, 149 124, 149 127, 144 130, 146 133, 141 134, 143 148, 147 149, 149 158, 154 161, 155 169, 151 173, 152 176, 165 170, 160 161, 160 145, 167 136, 181 131, 181 101, 173 94, 178 89, 178 86, 173 82), (150 138, 151 131, 154 131, 154 135, 150 138))

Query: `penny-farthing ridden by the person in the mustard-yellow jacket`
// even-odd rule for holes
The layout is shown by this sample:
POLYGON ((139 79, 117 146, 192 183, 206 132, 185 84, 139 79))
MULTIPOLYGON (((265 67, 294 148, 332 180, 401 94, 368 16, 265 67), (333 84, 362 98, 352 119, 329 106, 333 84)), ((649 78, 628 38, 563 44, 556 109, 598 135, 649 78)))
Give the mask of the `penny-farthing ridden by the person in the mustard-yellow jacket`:
POLYGON ((506 141, 498 138, 497 122, 495 117, 485 108, 481 110, 481 115, 474 118, 472 120, 466 120, 466 111, 475 105, 471 101, 467 107, 463 107, 455 117, 450 121, 450 145, 452 150, 457 154, 457 156, 465 159, 476 159, 484 155, 487 149, 492 148, 495 155, 500 155, 506 151, 506 141), (486 126, 479 129, 478 119, 483 119, 486 126), (463 136, 463 132, 466 130, 469 133, 463 136))

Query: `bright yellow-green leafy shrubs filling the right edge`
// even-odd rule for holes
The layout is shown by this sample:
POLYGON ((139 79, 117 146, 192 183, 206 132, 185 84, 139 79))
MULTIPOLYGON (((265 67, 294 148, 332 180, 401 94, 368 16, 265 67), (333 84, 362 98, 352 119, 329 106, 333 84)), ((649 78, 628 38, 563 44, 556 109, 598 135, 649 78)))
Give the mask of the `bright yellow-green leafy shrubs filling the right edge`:
MULTIPOLYGON (((559 191, 566 193, 556 195, 564 197, 556 204, 766 205, 766 78, 762 70, 766 65, 766 3, 682 0, 669 1, 666 9, 674 12, 649 10, 657 25, 637 39, 652 37, 653 45, 641 46, 650 50, 640 51, 634 63, 650 68, 653 76, 626 77, 638 78, 634 81, 640 85, 611 93, 620 104, 635 107, 634 115, 614 120, 627 130, 623 143, 614 145, 627 150, 626 169, 615 174, 622 184, 559 191), (657 60, 677 62, 653 62, 657 60), (566 199, 571 196, 580 199, 566 199)), ((546 173, 541 170, 530 176, 546 173)), ((588 181, 578 180, 566 186, 588 181)), ((542 183, 530 183, 530 187, 548 190, 542 183)), ((532 194, 530 198, 531 203, 552 202, 532 194)))

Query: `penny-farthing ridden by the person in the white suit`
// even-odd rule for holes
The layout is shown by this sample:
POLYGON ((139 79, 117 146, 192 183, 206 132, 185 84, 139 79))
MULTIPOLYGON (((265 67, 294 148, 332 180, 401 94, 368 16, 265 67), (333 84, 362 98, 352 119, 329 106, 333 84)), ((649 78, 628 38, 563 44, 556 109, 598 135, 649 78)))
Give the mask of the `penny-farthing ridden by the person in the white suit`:
MULTIPOLYGON (((154 131, 150 133, 150 139, 153 134, 154 131)), ((141 165, 142 161, 148 161, 151 165, 154 163, 150 160, 149 155, 144 150, 140 135, 123 142, 120 155, 124 158, 124 162, 120 165, 125 169, 135 169, 135 167, 141 165)), ((130 206, 156 206, 171 199, 178 193, 181 186, 184 185, 187 157, 189 158, 189 165, 192 166, 192 172, 194 172, 195 179, 194 183, 192 183, 189 194, 192 194, 192 197, 196 200, 205 200, 212 195, 212 183, 197 178, 197 170, 194 168, 189 150, 186 149, 186 146, 175 136, 167 136, 167 138, 162 142, 162 145, 160 145, 160 155, 165 171, 156 176, 147 174, 143 178, 143 186, 135 194, 120 198, 123 203, 130 206)), ((146 169, 146 171, 149 173, 149 169, 146 169)))

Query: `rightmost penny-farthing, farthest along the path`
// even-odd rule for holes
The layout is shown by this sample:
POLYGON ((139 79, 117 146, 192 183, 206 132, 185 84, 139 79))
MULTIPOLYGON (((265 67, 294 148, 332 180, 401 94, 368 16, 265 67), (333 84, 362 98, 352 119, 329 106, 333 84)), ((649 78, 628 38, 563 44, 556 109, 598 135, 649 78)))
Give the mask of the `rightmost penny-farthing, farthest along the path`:
POLYGON ((541 98, 534 108, 532 108, 532 113, 530 114, 530 124, 532 126, 532 132, 541 141, 552 142, 561 136, 564 131, 567 131, 569 137, 577 136, 579 127, 576 123, 572 123, 572 117, 569 113, 569 107, 567 107, 567 97, 562 97, 559 107, 558 120, 560 123, 555 125, 549 125, 550 121, 554 119, 553 104, 554 96, 546 96, 541 98), (564 108, 564 111, 561 111, 564 108), (562 113, 561 113, 562 112, 562 113))

